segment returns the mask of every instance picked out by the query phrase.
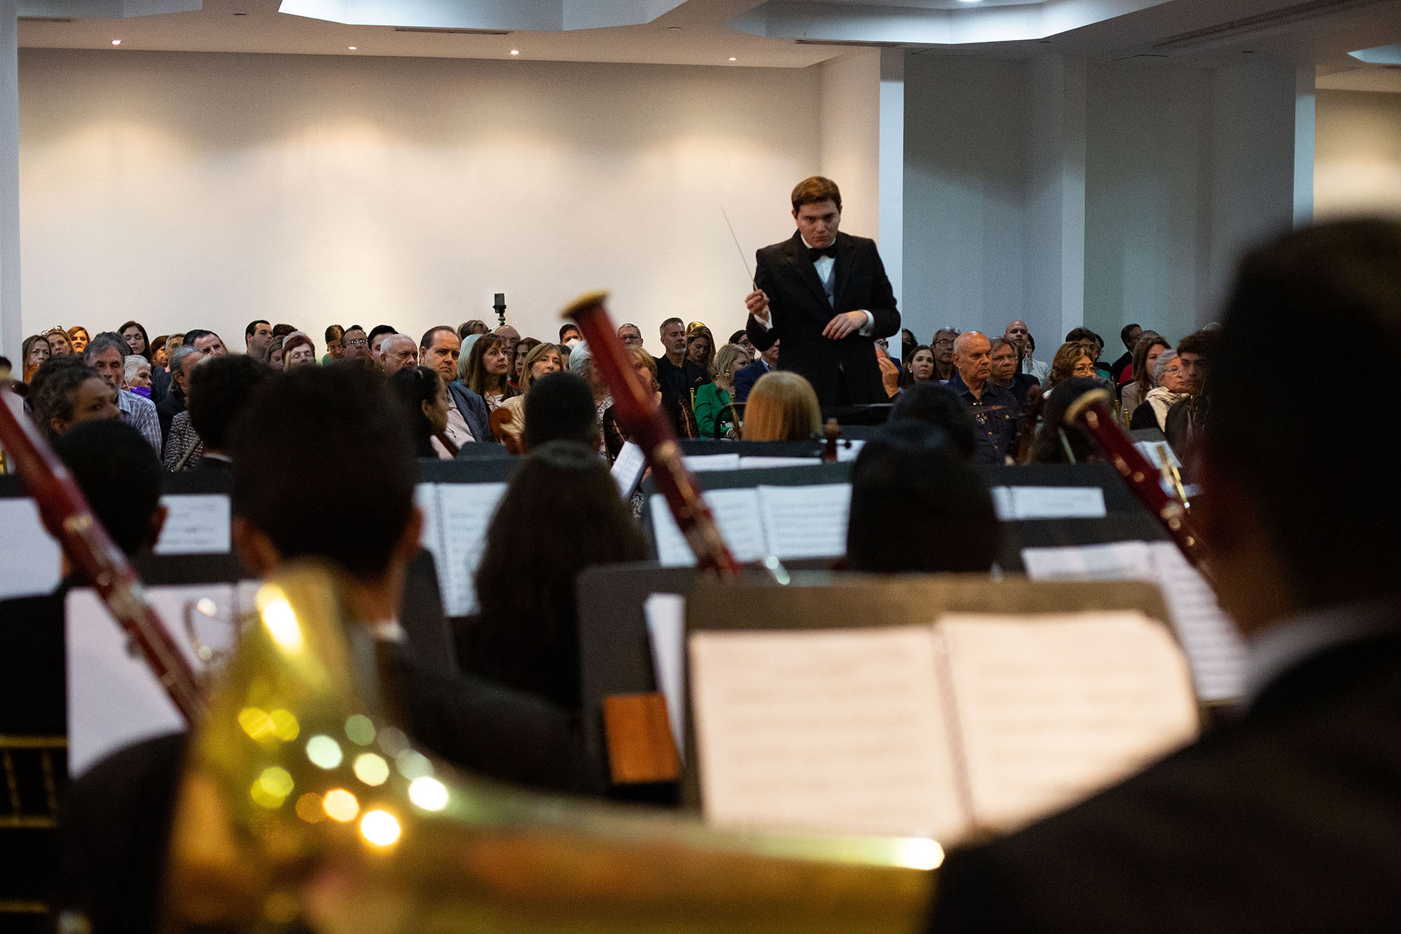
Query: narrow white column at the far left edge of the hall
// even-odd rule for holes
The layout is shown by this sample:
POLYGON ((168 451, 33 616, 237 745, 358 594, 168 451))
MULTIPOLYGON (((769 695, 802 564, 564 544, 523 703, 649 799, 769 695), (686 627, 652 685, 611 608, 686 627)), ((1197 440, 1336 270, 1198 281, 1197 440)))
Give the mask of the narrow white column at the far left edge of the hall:
POLYGON ((20 345, 20 14, 0 0, 0 349, 24 369, 20 345))

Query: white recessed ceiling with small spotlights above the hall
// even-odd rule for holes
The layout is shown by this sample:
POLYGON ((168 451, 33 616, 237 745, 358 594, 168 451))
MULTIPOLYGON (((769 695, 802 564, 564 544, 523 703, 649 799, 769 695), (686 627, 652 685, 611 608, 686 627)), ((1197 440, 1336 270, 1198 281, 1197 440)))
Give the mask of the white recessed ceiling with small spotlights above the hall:
POLYGON ((113 55, 807 67, 850 45, 894 45, 1145 63, 1226 65, 1255 55, 1323 76, 1355 73, 1351 80, 1363 84, 1386 83, 1363 77, 1386 66, 1346 53, 1401 42, 1397 0, 20 0, 20 13, 22 48, 113 55))

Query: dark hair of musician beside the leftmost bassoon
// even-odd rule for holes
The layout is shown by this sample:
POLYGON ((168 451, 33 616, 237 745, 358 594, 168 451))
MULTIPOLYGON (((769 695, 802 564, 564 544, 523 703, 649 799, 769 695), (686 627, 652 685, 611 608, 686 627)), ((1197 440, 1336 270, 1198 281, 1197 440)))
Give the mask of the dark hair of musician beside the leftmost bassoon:
POLYGON ((127 555, 150 544, 161 463, 142 433, 116 419, 83 422, 53 440, 106 534, 127 555))

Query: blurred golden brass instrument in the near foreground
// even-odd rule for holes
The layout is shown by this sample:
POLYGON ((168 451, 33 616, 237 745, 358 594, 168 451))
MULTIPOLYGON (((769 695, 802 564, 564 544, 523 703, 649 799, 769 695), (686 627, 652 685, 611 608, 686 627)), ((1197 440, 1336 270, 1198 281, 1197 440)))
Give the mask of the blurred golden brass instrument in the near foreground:
POLYGON ((384 712, 343 578, 287 565, 193 739, 172 931, 918 931, 933 840, 723 833, 509 790, 384 712))

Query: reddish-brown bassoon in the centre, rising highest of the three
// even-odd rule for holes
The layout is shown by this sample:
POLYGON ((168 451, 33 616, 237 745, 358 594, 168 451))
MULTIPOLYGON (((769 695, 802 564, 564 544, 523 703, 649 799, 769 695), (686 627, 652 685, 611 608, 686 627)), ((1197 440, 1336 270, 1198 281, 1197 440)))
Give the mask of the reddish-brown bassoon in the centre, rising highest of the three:
POLYGON ((628 429, 628 439, 646 454, 657 488, 667 498, 667 506, 696 557, 696 565, 723 576, 738 576, 740 565, 720 537, 710 508, 700 498, 700 487, 686 468, 667 417, 653 405, 651 390, 643 386, 633 370, 628 351, 608 320, 608 310, 604 307, 607 299, 607 292, 583 295, 565 309, 563 317, 572 318, 588 342, 594 366, 612 393, 614 412, 628 429))

